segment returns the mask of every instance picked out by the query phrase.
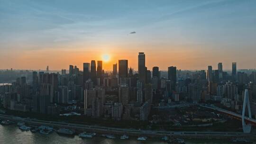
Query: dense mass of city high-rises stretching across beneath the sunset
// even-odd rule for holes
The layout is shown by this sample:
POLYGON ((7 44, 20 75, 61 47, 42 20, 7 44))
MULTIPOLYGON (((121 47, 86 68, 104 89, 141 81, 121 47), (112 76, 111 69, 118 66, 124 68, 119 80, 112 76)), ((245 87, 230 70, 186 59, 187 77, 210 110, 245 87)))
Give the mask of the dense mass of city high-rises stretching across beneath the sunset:
MULTIPOLYGON (((187 101, 215 101, 232 109, 242 107, 244 90, 256 99, 256 72, 232 71, 208 66, 207 72, 181 71, 170 66, 166 71, 146 67, 146 55, 138 53, 138 71, 128 68, 128 60, 113 64, 112 72, 103 70, 102 61, 83 63, 82 71, 70 65, 69 72, 32 72, 31 81, 19 77, 11 85, 0 86, 3 107, 56 115, 75 111, 87 117, 146 121, 152 108, 187 101)), ((29 77, 28 77, 29 78, 29 77)), ((254 105, 252 105, 253 107, 254 105)), ((255 108, 256 109, 256 108, 255 108)), ((253 112, 254 110, 252 110, 253 112)))

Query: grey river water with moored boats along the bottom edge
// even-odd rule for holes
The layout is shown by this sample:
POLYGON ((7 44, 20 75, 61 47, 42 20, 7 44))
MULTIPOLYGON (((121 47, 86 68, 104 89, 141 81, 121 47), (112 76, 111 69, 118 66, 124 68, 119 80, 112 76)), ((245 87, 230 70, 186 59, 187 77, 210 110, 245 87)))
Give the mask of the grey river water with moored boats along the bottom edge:
MULTIPOLYGON (((108 139, 100 136, 82 139, 77 135, 74 137, 61 136, 56 133, 42 135, 21 131, 18 126, 0 125, 0 144, 167 144, 154 139, 137 141, 136 138, 129 140, 108 139)), ((230 144, 222 141, 186 141, 186 144, 230 144)))

